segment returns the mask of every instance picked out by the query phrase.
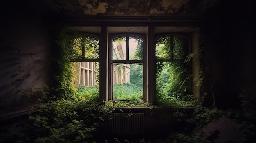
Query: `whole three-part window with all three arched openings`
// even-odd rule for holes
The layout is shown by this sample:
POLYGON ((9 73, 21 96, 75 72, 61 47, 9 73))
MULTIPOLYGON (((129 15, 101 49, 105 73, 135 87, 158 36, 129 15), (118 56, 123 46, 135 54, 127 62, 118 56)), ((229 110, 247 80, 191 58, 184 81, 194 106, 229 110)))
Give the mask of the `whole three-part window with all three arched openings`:
POLYGON ((197 47, 195 31, 198 29, 154 24, 107 25, 79 28, 101 37, 87 35, 74 40, 77 52, 72 61, 81 65, 77 64, 77 85, 99 85, 100 100, 155 103, 161 97, 181 96, 188 91, 192 94, 193 64, 184 60, 197 47), (192 35, 195 35, 194 44, 192 35))

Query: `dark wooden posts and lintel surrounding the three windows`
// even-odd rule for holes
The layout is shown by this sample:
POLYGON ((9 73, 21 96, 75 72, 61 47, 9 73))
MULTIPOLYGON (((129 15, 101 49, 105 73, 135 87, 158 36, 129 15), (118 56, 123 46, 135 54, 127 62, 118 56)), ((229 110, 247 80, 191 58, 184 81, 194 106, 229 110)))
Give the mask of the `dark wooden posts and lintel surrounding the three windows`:
MULTIPOLYGON (((83 25, 84 26, 84 25, 83 25)), ((82 27, 83 27, 82 26, 82 27)), ((183 32, 173 32, 171 30, 168 30, 168 32, 163 31, 163 30, 159 30, 156 29, 158 27, 163 27, 163 28, 167 28, 168 27, 173 27, 173 25, 157 25, 157 24, 142 24, 142 25, 138 25, 138 24, 99 24, 97 25, 98 27, 101 28, 101 31, 98 31, 94 33, 94 31, 90 31, 90 30, 84 30, 84 31, 90 31, 90 32, 86 32, 85 36, 89 36, 89 37, 95 37, 99 40, 100 43, 100 47, 99 47, 99 101, 109 101, 112 100, 112 95, 110 94, 110 77, 112 75, 112 73, 110 73, 110 63, 109 61, 112 60, 112 56, 110 57, 110 51, 111 50, 111 38, 113 38, 114 35, 116 35, 116 37, 118 37, 117 35, 124 35, 124 34, 129 34, 131 35, 131 37, 139 37, 139 35, 142 35, 142 37, 139 37, 141 39, 144 40, 144 58, 146 58, 146 65, 144 68, 144 71, 146 71, 146 77, 144 77, 143 82, 144 87, 143 87, 143 101, 146 101, 147 103, 155 103, 156 101, 156 68, 155 68, 155 63, 156 63, 156 58, 155 58, 155 39, 161 37, 161 36, 165 36, 166 35, 175 35, 177 37, 185 37, 189 39, 189 51, 188 53, 191 53, 192 51, 192 45, 191 45, 191 39, 193 37, 192 33, 194 31, 198 31, 198 30, 194 30, 194 31, 183 31, 183 32), (108 31, 109 27, 128 27, 128 28, 122 28, 119 30, 112 30, 112 31, 108 31), (129 29, 129 27, 131 27, 131 29, 134 27, 136 29, 136 27, 144 27, 147 28, 147 31, 132 31, 132 32, 126 32, 128 31, 127 29, 129 29), (113 32, 115 31, 115 32, 113 32), (120 32, 119 32, 120 31, 120 32), (96 35, 96 36, 95 36, 96 35), (98 35, 98 36, 97 36, 98 35), (100 36, 99 36, 100 35, 100 36), (135 35, 135 36, 133 36, 135 35)), ((88 24, 86 27, 92 27, 91 24, 88 24)), ((94 26, 95 27, 95 26, 94 26)), ((191 27, 191 26, 190 26, 191 27)), ((93 60, 95 59, 88 59, 88 62, 93 62, 93 60)), ((191 68, 193 68, 191 66, 191 68)), ((145 75, 145 74, 144 74, 145 75)), ((191 84, 192 85, 192 84, 191 84)), ((189 91, 194 92, 191 87, 189 89, 189 91)), ((192 94, 192 93, 191 93, 192 94)), ((126 100, 128 101, 128 100, 126 100)))

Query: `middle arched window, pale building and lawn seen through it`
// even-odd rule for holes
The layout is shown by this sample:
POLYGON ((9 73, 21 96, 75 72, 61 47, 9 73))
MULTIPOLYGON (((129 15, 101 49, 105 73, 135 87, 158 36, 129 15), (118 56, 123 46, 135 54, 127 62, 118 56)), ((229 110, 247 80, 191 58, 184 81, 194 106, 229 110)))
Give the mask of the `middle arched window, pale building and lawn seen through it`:
POLYGON ((110 99, 143 100, 146 77, 145 37, 135 34, 110 38, 110 99))

